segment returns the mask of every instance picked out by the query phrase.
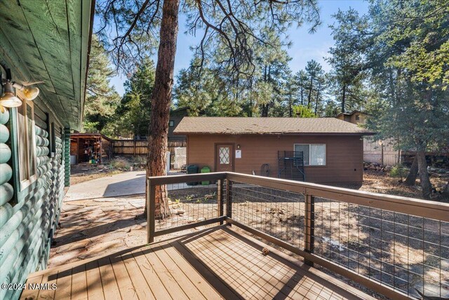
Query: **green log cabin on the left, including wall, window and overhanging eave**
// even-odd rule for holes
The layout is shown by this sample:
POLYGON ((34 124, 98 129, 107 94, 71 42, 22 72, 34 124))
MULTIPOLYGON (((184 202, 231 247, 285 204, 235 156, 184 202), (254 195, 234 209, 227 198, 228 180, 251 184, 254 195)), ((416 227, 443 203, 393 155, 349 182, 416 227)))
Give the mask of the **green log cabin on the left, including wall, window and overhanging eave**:
MULTIPOLYGON (((46 266, 70 131, 81 130, 94 13, 91 0, 0 1, 0 77, 39 88, 21 107, 0 107, 0 283, 46 266)), ((1 289, 0 299, 21 292, 1 289)))

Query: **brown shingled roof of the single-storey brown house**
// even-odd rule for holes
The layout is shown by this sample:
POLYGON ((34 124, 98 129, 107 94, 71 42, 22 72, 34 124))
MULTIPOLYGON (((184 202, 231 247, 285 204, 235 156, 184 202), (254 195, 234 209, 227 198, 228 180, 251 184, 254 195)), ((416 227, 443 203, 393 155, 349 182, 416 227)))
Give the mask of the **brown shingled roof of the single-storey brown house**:
POLYGON ((373 135, 335 118, 184 117, 175 134, 373 135))

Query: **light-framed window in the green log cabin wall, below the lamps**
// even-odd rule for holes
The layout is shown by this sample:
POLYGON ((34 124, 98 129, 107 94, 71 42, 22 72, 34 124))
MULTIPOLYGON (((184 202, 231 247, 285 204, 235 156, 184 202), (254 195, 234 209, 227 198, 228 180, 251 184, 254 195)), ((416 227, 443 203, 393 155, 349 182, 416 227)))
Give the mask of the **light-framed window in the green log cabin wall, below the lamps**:
POLYGON ((34 105, 22 100, 16 110, 18 180, 20 190, 36 181, 36 139, 34 136, 34 105))

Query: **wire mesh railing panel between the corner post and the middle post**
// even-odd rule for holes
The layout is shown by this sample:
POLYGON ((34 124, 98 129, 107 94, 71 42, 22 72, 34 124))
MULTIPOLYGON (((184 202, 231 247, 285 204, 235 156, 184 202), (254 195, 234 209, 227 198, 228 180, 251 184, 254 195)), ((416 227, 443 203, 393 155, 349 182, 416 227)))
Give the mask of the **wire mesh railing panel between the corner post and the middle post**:
POLYGON ((304 195, 233 183, 232 219, 304 249, 304 195))

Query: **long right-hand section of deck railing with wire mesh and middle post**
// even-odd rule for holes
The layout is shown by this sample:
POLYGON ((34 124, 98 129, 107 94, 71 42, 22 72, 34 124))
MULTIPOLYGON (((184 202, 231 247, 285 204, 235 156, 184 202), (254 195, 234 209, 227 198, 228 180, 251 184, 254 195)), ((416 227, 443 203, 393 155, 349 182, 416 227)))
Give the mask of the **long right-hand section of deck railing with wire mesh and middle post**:
POLYGON ((263 178, 271 182, 267 187, 255 176, 227 178, 237 226, 296 247, 307 263, 335 266, 337 273, 349 270, 382 294, 449 297, 447 206, 313 183, 263 178), (304 187, 304 194, 292 192, 297 188, 289 184, 304 187))

